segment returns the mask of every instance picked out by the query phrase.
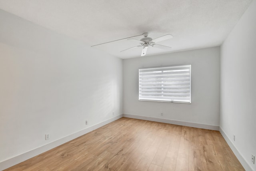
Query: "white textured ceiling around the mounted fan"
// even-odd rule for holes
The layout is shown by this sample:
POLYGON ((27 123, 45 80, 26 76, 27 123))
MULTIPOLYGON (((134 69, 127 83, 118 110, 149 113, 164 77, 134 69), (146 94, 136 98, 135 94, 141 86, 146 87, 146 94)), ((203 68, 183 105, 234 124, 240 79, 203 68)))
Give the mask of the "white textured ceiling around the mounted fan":
MULTIPOLYGON (((149 47, 148 55, 218 46, 252 0, 0 0, 0 8, 40 26, 82 40, 88 46, 149 33, 169 51, 149 47)), ((143 36, 135 37, 140 39, 143 36)), ((134 58, 142 48, 120 40, 95 46, 119 58, 134 58)))

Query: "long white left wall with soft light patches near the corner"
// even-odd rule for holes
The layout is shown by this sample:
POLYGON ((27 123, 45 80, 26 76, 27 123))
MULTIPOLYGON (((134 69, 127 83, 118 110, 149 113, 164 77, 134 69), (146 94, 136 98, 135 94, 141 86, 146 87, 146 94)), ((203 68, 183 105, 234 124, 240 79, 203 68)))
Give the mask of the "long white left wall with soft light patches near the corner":
POLYGON ((0 162, 117 115, 121 59, 0 10, 0 162))

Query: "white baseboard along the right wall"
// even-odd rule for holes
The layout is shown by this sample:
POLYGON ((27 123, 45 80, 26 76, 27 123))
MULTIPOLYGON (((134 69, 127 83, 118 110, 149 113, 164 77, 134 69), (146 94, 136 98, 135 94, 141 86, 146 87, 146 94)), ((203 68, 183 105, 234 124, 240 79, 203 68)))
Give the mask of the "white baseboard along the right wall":
POLYGON ((226 140, 226 142, 228 143, 229 147, 231 148, 233 153, 236 155, 237 159, 240 161, 240 163, 242 164, 244 169, 246 171, 254 171, 252 169, 252 167, 250 167, 250 165, 246 162, 244 157, 241 155, 241 153, 238 151, 238 149, 236 148, 234 143, 228 138, 227 134, 223 131, 223 129, 221 127, 220 127, 220 133, 224 137, 224 139, 226 140))

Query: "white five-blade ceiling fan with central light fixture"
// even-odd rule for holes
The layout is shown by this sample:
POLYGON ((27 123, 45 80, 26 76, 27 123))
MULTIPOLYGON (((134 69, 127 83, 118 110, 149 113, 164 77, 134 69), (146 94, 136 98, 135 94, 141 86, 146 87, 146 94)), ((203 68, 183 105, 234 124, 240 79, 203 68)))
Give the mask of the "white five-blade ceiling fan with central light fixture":
MULTIPOLYGON (((125 50, 130 50, 130 49, 134 49, 134 48, 143 47, 142 52, 141 52, 141 56, 145 56, 149 46, 154 47, 154 48, 160 48, 160 49, 163 49, 163 50, 170 50, 170 48, 172 48, 172 47, 169 47, 169 46, 155 44, 157 42, 161 42, 161 41, 168 40, 168 39, 172 38, 173 36, 171 34, 166 34, 164 36, 161 36, 161 37, 155 38, 155 39, 152 39, 152 38, 148 37, 148 33, 143 33, 142 35, 138 35, 138 36, 144 36, 144 38, 142 38, 140 40, 131 39, 131 38, 136 37, 136 36, 132 36, 132 37, 129 37, 129 38, 124 38, 124 39, 132 40, 132 41, 137 42, 137 43, 140 44, 139 46, 134 46, 132 48, 128 48, 128 49, 125 49, 125 50)), ((119 39, 119 40, 124 40, 124 39, 119 39)), ((114 40, 114 41, 111 41, 111 42, 115 42, 115 41, 118 41, 118 40, 114 40)), ((110 42, 106 42, 106 43, 110 43, 110 42)), ((106 44, 106 43, 102 43, 102 44, 106 44)), ((97 44, 97 45, 94 45, 94 46, 98 46, 98 45, 101 45, 101 44, 97 44)), ((93 46, 91 46, 91 47, 93 47, 93 46)), ((123 52, 125 50, 122 50, 120 52, 123 52)))

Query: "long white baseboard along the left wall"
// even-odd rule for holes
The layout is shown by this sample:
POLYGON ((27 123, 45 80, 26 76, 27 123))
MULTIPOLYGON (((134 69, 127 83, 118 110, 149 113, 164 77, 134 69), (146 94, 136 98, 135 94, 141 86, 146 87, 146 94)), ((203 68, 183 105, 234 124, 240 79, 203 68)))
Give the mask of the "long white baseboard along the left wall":
POLYGON ((102 121, 100 123, 92 125, 92 126, 86 128, 86 129, 78 131, 78 132, 76 132, 74 134, 68 135, 68 136, 63 137, 61 139, 53 141, 53 142, 51 142, 49 144, 43 145, 42 147, 38 147, 36 149, 32 149, 31 151, 28 151, 28 152, 23 153, 21 155, 18 155, 16 157, 12 157, 10 159, 2 161, 2 162, 0 162, 0 170, 2 171, 4 169, 12 167, 12 166, 14 166, 14 165, 16 165, 18 163, 21 163, 22 161, 25 161, 25 160, 30 159, 32 157, 35 157, 36 155, 39 155, 39 154, 44 153, 44 152, 46 152, 46 151, 48 151, 50 149, 58 147, 59 145, 62 145, 64 143, 68 142, 68 141, 71 141, 72 139, 80 137, 80 136, 82 136, 82 135, 84 135, 84 134, 86 134, 86 133, 88 133, 90 131, 93 131, 94 129, 97 129, 97 128, 102 127, 102 126, 104 126, 104 125, 106 125, 106 124, 108 124, 108 123, 110 123, 112 121, 115 121, 115 120, 121 118, 122 116, 123 115, 121 114, 121 115, 118 115, 116 117, 112 117, 110 119, 107 119, 106 121, 102 121))

